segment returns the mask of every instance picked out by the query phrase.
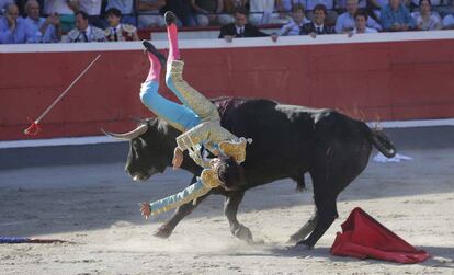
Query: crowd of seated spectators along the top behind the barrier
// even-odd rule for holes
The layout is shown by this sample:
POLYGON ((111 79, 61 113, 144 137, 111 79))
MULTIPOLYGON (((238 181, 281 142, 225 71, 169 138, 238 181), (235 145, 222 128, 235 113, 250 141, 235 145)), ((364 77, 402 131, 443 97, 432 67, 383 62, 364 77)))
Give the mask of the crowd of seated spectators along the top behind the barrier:
POLYGON ((454 0, 0 0, 0 44, 137 41, 137 30, 220 26, 219 38, 454 28, 454 0))

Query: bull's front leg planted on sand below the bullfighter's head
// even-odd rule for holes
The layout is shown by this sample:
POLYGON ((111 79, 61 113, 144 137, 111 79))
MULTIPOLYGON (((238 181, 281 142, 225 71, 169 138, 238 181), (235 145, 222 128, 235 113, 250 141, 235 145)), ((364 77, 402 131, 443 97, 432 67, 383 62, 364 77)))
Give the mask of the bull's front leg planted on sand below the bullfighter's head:
POLYGON ((238 206, 245 196, 245 192, 232 192, 229 193, 224 203, 224 214, 227 216, 228 222, 230 224, 231 233, 240 240, 252 242, 253 237, 251 230, 239 224, 237 219, 238 206))

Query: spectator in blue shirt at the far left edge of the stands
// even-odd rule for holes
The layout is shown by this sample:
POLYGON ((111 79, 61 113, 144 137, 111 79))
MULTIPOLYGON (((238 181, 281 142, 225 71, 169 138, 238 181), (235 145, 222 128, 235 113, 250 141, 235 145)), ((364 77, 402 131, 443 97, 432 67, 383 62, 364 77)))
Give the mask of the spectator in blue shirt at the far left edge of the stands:
POLYGON ((19 18, 18 5, 9 4, 4 18, 0 18, 0 44, 26 43, 30 37, 25 21, 19 18))

